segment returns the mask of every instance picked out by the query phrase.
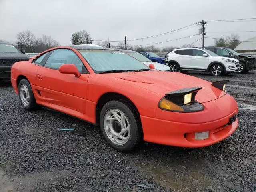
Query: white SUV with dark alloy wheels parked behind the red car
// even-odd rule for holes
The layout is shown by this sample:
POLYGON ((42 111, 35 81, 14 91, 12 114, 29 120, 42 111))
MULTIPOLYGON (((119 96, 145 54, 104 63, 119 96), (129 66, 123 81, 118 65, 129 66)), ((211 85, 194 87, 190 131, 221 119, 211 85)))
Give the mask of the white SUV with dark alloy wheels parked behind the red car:
POLYGON ((238 69, 239 61, 234 58, 220 57, 204 48, 174 49, 166 54, 166 65, 172 72, 179 70, 204 70, 213 76, 229 74, 238 69))

